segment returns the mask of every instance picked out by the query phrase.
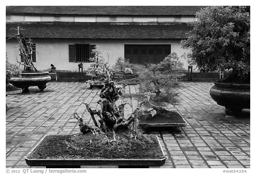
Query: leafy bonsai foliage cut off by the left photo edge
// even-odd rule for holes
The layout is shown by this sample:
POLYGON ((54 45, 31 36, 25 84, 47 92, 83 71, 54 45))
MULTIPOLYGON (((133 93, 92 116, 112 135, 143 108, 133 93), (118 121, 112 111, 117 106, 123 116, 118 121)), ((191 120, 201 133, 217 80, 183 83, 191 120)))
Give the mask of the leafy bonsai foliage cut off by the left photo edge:
POLYGON ((20 76, 20 67, 8 62, 8 55, 5 54, 5 84, 9 85, 9 80, 12 76, 20 76))

